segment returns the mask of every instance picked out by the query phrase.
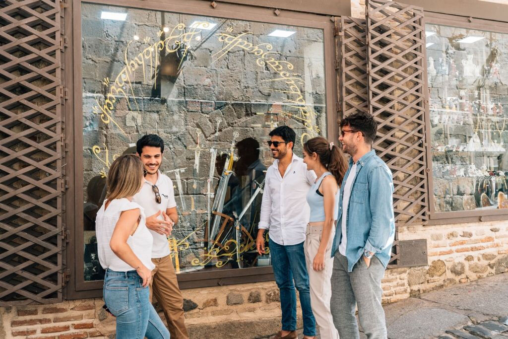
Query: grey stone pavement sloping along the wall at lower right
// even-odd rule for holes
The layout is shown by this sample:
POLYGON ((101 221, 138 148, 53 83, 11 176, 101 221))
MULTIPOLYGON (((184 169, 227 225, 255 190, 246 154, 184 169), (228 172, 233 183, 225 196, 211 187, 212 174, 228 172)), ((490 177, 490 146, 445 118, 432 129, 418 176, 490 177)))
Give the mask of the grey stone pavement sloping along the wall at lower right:
MULTIPOLYGON (((421 294, 384 309, 389 339, 508 339, 508 273, 421 294)), ((299 338, 302 332, 300 328, 299 338)))

